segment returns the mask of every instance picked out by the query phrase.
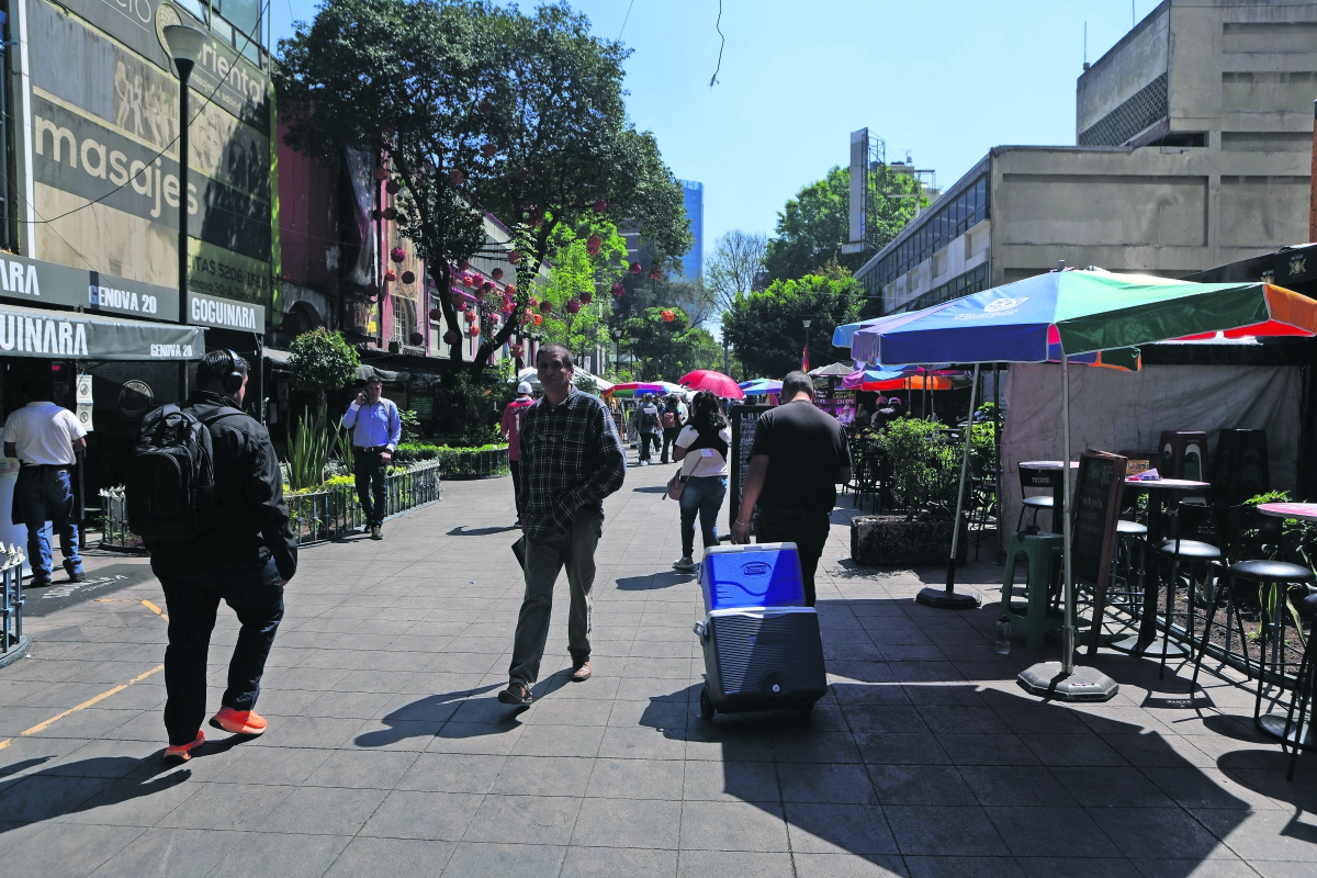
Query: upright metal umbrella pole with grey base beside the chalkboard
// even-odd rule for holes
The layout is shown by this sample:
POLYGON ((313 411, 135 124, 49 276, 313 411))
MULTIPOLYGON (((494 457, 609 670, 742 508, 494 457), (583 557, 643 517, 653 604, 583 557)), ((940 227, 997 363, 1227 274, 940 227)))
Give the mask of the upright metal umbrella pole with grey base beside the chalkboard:
POLYGON ((1039 662, 1019 671, 1017 682, 1030 694, 1059 702, 1109 702, 1119 684, 1097 670, 1075 665, 1075 581, 1071 578, 1071 478, 1069 478, 1069 355, 1062 354, 1062 530, 1063 595, 1062 661, 1039 662))

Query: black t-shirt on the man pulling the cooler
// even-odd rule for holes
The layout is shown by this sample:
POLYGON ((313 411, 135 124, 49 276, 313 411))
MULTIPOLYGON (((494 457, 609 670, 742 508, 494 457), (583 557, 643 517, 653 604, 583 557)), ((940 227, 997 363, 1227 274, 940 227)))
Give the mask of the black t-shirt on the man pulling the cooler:
POLYGON ((851 466, 842 424, 813 403, 778 405, 759 416, 749 455, 768 455, 759 495, 766 511, 830 512, 836 504, 836 470, 851 466))

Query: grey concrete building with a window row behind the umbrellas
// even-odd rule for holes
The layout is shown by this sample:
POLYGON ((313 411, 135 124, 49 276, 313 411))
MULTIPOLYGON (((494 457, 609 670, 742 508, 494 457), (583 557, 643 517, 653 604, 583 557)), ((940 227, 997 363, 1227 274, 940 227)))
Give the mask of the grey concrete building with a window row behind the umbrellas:
POLYGON ((1181 276, 1308 238, 1317 5, 1166 0, 1077 82, 1076 146, 996 146, 857 276, 881 312, 1056 266, 1181 276))

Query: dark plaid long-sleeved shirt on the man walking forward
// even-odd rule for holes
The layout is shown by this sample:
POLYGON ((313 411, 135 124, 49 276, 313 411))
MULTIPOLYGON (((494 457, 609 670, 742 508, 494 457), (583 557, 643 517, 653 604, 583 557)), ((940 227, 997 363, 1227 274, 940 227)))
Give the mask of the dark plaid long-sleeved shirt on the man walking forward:
POLYGON ((603 498, 622 487, 627 457, 612 415, 574 387, 557 408, 536 400, 522 412, 522 513, 532 537, 566 530, 577 515, 603 517, 603 498))

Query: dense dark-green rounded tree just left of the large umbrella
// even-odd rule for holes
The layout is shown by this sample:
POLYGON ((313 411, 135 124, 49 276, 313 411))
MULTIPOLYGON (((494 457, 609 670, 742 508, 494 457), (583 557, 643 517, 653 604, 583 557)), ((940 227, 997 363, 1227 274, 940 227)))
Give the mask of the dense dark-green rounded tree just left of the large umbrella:
POLYGON ((723 337, 752 375, 781 376, 801 367, 803 319, 810 320, 810 365, 839 361, 832 330, 856 319, 863 288, 835 262, 826 271, 738 295, 723 313, 723 337))

